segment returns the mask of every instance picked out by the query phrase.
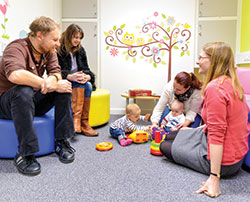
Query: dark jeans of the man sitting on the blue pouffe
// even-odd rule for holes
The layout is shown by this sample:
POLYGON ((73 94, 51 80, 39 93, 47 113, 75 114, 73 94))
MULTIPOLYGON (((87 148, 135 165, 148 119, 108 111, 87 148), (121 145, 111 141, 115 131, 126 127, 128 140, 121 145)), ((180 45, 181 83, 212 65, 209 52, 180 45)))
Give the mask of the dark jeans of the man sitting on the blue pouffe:
POLYGON ((55 140, 74 135, 70 93, 34 92, 30 86, 17 85, 0 95, 0 118, 12 119, 18 136, 18 152, 22 156, 39 151, 33 125, 34 116, 42 116, 55 106, 55 140))

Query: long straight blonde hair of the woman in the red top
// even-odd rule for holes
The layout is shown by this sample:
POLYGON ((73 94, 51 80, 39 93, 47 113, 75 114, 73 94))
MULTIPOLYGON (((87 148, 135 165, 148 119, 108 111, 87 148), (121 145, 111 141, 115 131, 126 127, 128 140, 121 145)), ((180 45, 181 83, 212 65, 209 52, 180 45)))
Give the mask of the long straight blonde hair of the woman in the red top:
POLYGON ((232 80, 234 97, 243 100, 244 91, 235 72, 234 55, 231 47, 224 42, 212 42, 207 43, 202 50, 210 58, 210 67, 202 86, 202 94, 204 95, 206 86, 210 81, 225 75, 232 80))

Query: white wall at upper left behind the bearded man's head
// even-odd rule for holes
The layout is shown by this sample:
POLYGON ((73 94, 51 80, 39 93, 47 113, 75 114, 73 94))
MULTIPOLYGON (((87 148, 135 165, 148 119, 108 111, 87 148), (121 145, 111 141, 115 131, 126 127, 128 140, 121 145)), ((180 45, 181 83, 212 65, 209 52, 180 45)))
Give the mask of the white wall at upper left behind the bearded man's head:
MULTIPOLYGON (((4 29, 0 26, 0 54, 5 46, 12 40, 20 38, 29 32, 30 23, 37 17, 47 16, 61 22, 60 0, 0 0, 2 6, 8 2, 5 18, 6 35, 9 39, 2 38, 4 29)), ((0 23, 4 22, 4 14, 0 10, 0 23)))

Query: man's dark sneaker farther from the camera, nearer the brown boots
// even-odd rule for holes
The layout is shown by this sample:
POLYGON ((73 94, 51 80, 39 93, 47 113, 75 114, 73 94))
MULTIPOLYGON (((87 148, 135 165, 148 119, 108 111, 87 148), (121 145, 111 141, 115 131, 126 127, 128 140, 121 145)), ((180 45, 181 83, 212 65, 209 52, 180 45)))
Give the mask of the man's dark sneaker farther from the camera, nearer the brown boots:
POLYGON ((67 140, 58 140, 55 142, 55 152, 62 163, 73 162, 75 160, 75 151, 67 140))

